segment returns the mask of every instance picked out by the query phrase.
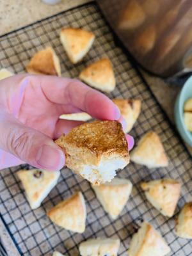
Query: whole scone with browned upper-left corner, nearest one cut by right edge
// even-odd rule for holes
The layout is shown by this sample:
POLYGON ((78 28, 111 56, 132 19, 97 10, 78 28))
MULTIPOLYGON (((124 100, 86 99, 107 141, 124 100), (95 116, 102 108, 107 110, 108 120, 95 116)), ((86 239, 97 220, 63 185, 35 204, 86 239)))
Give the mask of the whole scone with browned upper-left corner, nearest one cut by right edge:
POLYGON ((142 182, 141 188, 145 191, 150 204, 164 216, 172 217, 180 196, 180 183, 177 180, 162 179, 142 182))

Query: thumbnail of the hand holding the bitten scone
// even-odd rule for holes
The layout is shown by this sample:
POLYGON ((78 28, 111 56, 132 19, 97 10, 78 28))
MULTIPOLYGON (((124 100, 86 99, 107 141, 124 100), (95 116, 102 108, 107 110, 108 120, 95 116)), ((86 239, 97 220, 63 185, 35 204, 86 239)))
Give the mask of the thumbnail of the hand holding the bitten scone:
POLYGON ((38 163, 41 168, 52 171, 60 170, 65 163, 65 156, 62 150, 43 145, 36 154, 36 163, 38 163))

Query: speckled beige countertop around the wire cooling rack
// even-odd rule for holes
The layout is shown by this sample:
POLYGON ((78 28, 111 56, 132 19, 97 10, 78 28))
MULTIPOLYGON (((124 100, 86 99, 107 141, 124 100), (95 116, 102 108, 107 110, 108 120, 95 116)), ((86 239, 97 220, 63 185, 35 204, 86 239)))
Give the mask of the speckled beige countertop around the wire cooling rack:
MULTIPOLYGON (((41 0, 0 0, 0 35, 4 35, 37 20, 44 19, 45 17, 49 17, 63 10, 68 10, 74 6, 88 2, 90 2, 90 0, 63 0, 61 3, 51 6, 42 3, 41 0), (10 19, 10 17, 12 17, 12 19, 10 19)), ((143 70, 141 70, 141 72, 143 73, 143 76, 145 77, 157 100, 163 107, 171 122, 174 124, 173 105, 175 102, 175 97, 180 90, 180 86, 168 84, 163 81, 163 79, 150 76, 143 70)), ((189 148, 189 151, 192 154, 191 148, 189 148)), ((17 256, 14 245, 12 242, 10 242, 9 235, 6 232, 6 228, 4 228, 3 223, 1 223, 1 220, 0 234, 1 239, 8 250, 8 255, 17 256)))

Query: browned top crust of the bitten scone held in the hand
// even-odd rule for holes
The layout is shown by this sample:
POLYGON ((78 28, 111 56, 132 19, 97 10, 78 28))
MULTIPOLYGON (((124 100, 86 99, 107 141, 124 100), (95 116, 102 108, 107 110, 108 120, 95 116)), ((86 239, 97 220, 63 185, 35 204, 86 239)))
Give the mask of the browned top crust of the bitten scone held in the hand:
POLYGON ((63 141, 77 148, 88 148, 98 155, 115 153, 128 156, 127 140, 122 125, 117 121, 94 121, 79 125, 56 143, 63 147, 63 141))

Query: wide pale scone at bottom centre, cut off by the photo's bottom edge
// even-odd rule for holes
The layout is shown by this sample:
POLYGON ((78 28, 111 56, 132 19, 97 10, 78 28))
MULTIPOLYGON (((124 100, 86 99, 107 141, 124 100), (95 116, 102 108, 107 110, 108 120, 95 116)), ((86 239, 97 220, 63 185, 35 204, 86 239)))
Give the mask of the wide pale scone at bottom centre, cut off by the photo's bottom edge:
POLYGON ((81 256, 117 256, 119 239, 97 238, 84 241, 79 245, 81 256))

